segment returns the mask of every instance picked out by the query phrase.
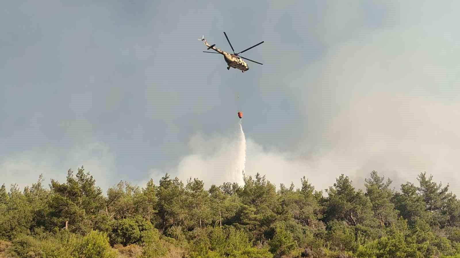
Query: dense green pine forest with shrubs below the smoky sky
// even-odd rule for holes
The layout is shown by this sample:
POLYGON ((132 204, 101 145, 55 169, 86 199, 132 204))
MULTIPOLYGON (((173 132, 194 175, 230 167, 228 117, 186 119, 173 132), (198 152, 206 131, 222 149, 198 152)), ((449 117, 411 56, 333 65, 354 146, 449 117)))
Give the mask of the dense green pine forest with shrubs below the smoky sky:
POLYGON ((376 171, 357 189, 341 174, 316 190, 244 176, 205 188, 165 174, 103 192, 83 166, 0 188, 0 257, 460 258, 460 202, 420 173, 392 186, 376 171))

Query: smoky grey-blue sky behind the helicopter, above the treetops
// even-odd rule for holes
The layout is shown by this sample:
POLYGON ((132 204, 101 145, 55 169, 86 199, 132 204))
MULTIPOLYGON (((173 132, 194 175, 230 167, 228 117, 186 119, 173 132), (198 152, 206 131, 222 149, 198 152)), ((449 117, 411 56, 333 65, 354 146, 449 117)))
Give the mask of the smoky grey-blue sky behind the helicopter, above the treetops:
POLYGON ((8 1, 0 10, 0 184, 104 191, 169 173, 396 190, 426 171, 460 194, 458 1, 8 1), (244 56, 227 71, 201 39, 244 56), (236 97, 238 96, 238 97, 236 97))

